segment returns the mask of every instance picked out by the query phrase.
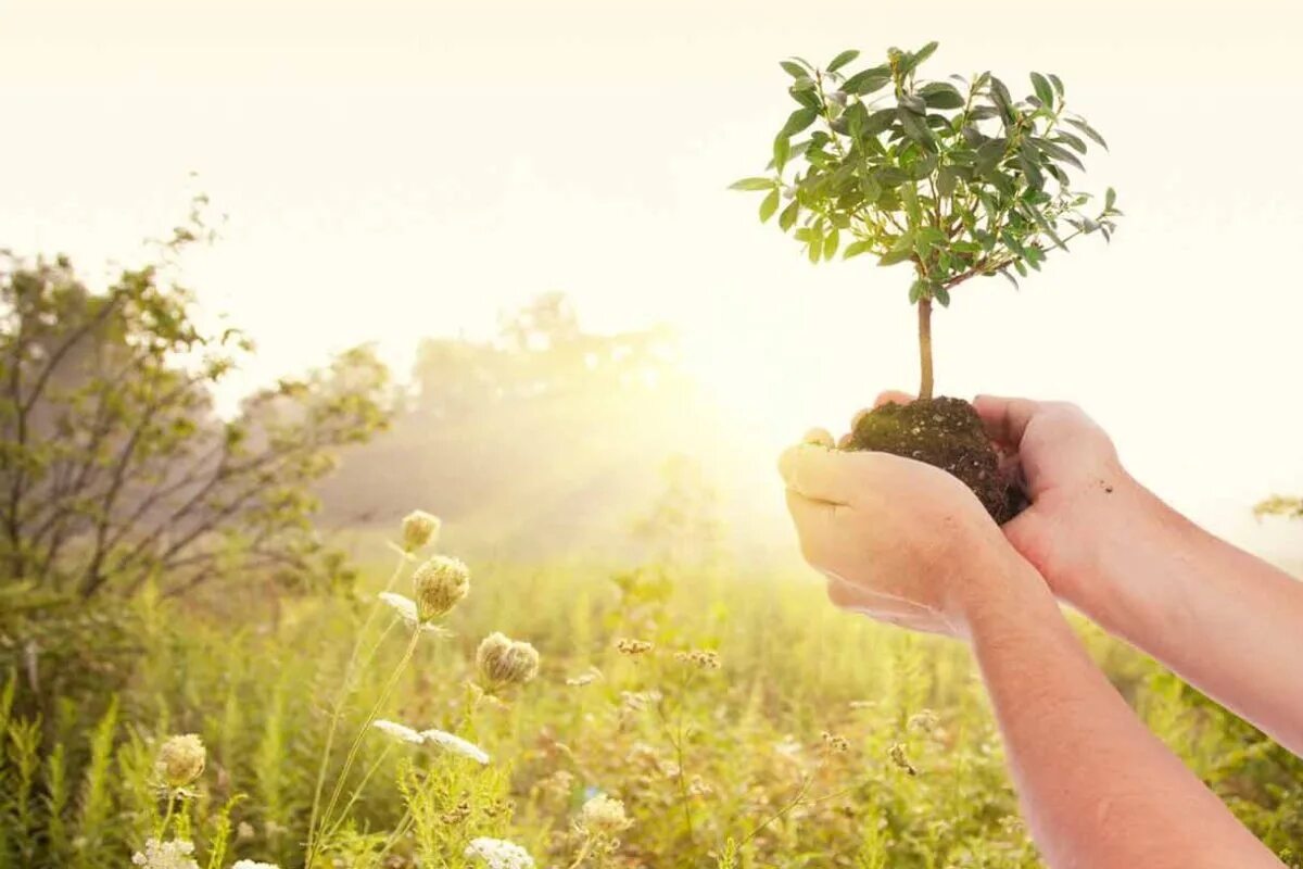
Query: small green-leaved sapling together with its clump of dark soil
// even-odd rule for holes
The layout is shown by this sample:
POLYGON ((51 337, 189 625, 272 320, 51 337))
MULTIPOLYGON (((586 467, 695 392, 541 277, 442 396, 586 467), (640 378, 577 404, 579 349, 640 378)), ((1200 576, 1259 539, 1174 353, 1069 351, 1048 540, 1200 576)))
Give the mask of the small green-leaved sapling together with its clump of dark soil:
POLYGON ((1003 521, 1020 494, 999 472, 981 421, 966 401, 933 397, 933 302, 947 307, 951 292, 979 276, 1016 287, 1010 272, 1040 271, 1080 235, 1109 240, 1122 212, 1111 188, 1093 208, 1091 194, 1071 189, 1088 142, 1108 145, 1067 111, 1058 76, 1032 73, 1033 93, 1019 100, 990 73, 924 81, 919 68, 936 50, 934 42, 891 48, 885 64, 853 74, 846 72, 860 55, 853 50, 822 69, 782 61, 797 108, 774 138, 770 175, 732 188, 762 192, 761 221, 777 215, 812 263, 840 250, 843 259, 908 264, 919 399, 861 416, 843 446, 945 468, 1003 521))

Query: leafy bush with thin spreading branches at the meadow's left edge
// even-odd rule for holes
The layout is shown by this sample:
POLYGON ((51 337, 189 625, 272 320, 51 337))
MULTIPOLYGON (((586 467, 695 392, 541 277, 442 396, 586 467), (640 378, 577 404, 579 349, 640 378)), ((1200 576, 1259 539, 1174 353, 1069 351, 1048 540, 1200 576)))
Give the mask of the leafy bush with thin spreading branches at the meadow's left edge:
POLYGON ((65 258, 0 259, 5 578, 86 598, 150 582, 180 594, 240 569, 341 571, 309 522, 311 486, 384 426, 388 373, 357 348, 219 416, 212 390, 250 345, 206 328, 167 279, 197 237, 179 229, 104 292, 65 258))

